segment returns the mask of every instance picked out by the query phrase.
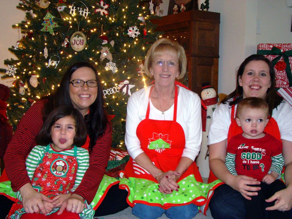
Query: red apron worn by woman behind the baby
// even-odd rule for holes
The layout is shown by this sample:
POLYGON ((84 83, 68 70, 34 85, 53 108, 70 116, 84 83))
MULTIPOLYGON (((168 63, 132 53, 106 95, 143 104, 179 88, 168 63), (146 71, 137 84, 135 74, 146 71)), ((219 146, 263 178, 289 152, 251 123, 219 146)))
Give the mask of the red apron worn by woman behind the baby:
MULTIPOLYGON (((235 135, 238 135, 240 133, 242 133, 242 128, 239 127, 236 123, 236 120, 235 120, 235 115, 236 115, 236 111, 235 111, 235 105, 233 105, 231 107, 231 123, 230 123, 230 126, 229 126, 229 129, 228 129, 228 137, 227 137, 227 142, 230 141, 230 139, 235 136, 235 135)), ((266 125, 265 127, 265 130, 264 132, 272 135, 273 137, 275 137, 276 139, 278 139, 280 142, 282 142, 281 140, 281 134, 280 134, 280 130, 279 130, 279 127, 278 127, 278 124, 276 122, 276 120, 273 118, 273 117, 270 117, 269 118, 269 122, 268 124, 266 125)), ((285 167, 283 168, 283 172, 285 170, 285 167)), ((284 180, 284 174, 282 172, 282 175, 281 175, 281 178, 282 180, 284 180)), ((210 186, 215 189, 217 188, 218 186, 224 184, 225 182, 222 182, 221 180, 219 180, 215 175, 214 173, 210 170, 210 173, 209 173, 209 178, 208 178, 208 183, 210 184, 210 186)))

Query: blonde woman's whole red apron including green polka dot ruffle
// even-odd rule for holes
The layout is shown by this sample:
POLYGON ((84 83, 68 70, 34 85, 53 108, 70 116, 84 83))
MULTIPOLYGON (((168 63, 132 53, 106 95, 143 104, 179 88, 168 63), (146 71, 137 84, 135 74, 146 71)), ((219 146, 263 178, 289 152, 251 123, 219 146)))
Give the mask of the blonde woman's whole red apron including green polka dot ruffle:
MULTIPOLYGON (((150 94, 153 86, 150 89, 150 94)), ((150 113, 150 94, 146 117, 137 126, 137 137, 141 148, 151 162, 163 172, 175 170, 185 148, 185 133, 181 125, 176 122, 178 87, 175 89, 173 120, 152 120, 150 113)), ((179 191, 163 194, 158 191, 159 183, 143 167, 132 158, 120 172, 120 188, 128 191, 127 202, 130 206, 142 203, 168 209, 172 206, 195 204, 203 206, 212 194, 208 184, 204 184, 196 163, 182 174, 177 184, 179 191)))

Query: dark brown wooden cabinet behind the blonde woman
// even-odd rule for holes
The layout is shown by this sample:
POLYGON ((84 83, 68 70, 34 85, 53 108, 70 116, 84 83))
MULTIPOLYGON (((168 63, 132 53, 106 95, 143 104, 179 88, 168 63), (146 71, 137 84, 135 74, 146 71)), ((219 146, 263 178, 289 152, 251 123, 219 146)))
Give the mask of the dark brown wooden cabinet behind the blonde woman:
POLYGON ((188 61, 188 87, 201 94, 202 83, 209 82, 218 93, 220 13, 192 9, 152 19, 156 31, 185 48, 188 61))

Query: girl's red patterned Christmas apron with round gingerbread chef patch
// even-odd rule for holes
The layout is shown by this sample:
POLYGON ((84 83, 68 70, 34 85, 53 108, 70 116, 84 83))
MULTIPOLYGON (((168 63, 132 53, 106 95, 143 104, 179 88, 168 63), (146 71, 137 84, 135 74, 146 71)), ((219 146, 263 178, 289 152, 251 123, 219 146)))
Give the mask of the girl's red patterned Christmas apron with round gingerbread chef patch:
MULTIPOLYGON (((62 152, 53 153, 52 150, 49 152, 50 148, 51 145, 47 145, 46 152, 34 171, 31 184, 36 191, 52 199, 56 195, 70 193, 75 184, 78 161, 76 146, 69 149, 74 150, 74 156, 62 154, 62 152)), ((59 208, 53 208, 48 215, 58 210, 59 208)), ((84 215, 83 212, 80 215, 84 215)), ((17 202, 12 205, 7 218, 20 218, 24 213, 26 212, 22 203, 17 202)), ((89 212, 87 211, 87 213, 89 212)), ((92 210, 90 215, 93 216, 93 214, 94 211, 92 210)))

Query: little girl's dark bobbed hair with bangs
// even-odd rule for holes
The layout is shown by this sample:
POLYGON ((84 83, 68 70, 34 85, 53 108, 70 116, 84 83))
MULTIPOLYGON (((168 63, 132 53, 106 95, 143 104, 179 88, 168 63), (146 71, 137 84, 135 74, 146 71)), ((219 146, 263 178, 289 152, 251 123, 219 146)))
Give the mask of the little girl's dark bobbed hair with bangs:
POLYGON ((52 142, 51 128, 59 119, 71 116, 75 120, 74 145, 81 147, 87 138, 86 125, 82 114, 74 107, 61 106, 54 109, 44 122, 39 134, 36 136, 38 145, 46 146, 52 142))

